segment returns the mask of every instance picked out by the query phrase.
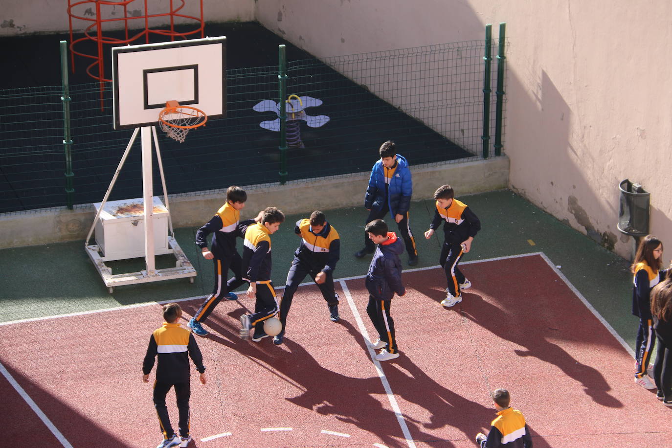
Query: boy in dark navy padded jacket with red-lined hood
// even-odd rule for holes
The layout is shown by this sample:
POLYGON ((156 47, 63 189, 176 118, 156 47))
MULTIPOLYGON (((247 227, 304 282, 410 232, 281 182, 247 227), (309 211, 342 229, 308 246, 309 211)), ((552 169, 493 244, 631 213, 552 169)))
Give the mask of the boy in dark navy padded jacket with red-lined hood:
POLYGON ((366 289, 369 291, 369 304, 366 312, 378 331, 378 340, 369 347, 382 349, 376 359, 389 361, 399 357, 394 338, 394 320, 390 316, 390 305, 394 293, 406 294, 401 282, 401 261, 399 254, 404 251, 403 244, 394 232, 388 232, 383 220, 374 220, 364 228, 373 244, 378 244, 374 257, 366 274, 366 289))

